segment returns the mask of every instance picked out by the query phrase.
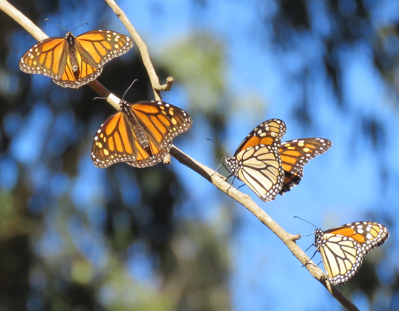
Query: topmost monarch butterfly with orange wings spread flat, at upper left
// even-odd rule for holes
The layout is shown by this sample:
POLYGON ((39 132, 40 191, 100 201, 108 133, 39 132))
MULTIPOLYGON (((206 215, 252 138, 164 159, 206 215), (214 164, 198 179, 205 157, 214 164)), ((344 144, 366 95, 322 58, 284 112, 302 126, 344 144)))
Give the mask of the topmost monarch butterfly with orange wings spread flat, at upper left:
POLYGON ((126 53, 132 39, 111 30, 93 30, 75 37, 51 37, 32 46, 20 59, 20 69, 40 73, 61 87, 79 88, 96 79, 103 65, 126 53))

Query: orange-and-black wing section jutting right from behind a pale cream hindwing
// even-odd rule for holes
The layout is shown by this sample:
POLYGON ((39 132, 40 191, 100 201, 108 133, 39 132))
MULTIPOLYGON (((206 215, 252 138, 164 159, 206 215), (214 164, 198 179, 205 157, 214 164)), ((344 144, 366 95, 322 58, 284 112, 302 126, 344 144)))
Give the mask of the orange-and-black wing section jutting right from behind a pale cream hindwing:
POLYGON ((299 138, 280 144, 280 157, 284 168, 284 183, 280 195, 299 184, 303 177, 303 167, 310 159, 324 154, 332 142, 326 138, 299 138))

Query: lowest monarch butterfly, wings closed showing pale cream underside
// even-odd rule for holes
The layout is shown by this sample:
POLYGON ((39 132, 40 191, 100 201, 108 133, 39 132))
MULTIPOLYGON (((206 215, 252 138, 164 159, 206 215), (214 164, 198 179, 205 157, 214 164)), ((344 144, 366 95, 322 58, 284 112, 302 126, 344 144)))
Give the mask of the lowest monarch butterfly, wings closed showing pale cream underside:
POLYGON ((328 281, 339 285, 358 272, 363 256, 383 244, 388 229, 382 224, 358 221, 334 227, 326 231, 316 228, 314 245, 320 252, 328 281))

